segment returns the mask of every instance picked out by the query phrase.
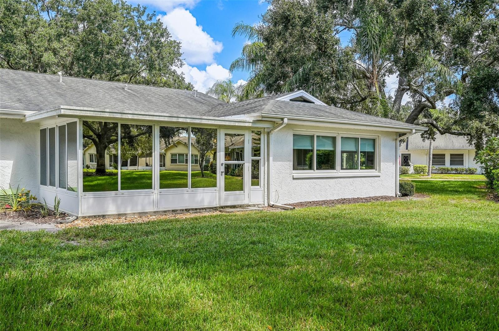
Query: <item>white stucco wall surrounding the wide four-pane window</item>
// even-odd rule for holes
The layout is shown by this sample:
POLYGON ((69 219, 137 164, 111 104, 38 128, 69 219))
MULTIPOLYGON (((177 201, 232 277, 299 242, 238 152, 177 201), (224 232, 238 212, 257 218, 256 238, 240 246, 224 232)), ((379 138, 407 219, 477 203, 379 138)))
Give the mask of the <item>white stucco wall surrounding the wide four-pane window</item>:
POLYGON ((349 197, 395 195, 396 133, 340 128, 287 125, 272 135, 272 198, 274 203, 292 203, 349 197), (339 132, 377 135, 380 146, 380 175, 372 177, 293 178, 293 130, 310 133, 339 132))

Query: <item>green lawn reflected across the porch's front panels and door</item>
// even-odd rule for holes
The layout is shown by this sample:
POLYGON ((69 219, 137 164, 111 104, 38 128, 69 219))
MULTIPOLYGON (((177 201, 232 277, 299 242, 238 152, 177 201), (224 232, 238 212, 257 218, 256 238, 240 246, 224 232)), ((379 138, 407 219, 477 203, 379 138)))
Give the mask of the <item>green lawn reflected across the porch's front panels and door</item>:
MULTIPOLYGON (((85 173, 93 173, 95 170, 85 169, 85 173)), ((186 188, 187 171, 160 171, 160 188, 186 188)), ((205 171, 205 177, 201 177, 201 171, 192 171, 192 188, 217 187, 217 176, 205 171)), ((241 177, 225 176, 227 191, 243 190, 241 177)), ((257 179, 251 179, 251 185, 258 185, 257 179)), ((151 189, 152 170, 121 170, 121 189, 151 189)), ((83 192, 103 192, 118 190, 118 170, 108 170, 106 176, 83 176, 83 192)))

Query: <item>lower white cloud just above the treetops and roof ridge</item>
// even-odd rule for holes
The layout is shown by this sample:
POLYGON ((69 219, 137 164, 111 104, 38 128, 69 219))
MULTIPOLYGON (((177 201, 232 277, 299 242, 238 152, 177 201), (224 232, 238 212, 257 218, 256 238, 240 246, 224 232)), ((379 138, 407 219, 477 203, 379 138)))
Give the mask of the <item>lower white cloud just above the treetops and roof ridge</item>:
MULTIPOLYGON (((212 87, 217 80, 232 78, 232 74, 228 69, 216 63, 210 64, 205 70, 199 70, 198 68, 192 67, 188 64, 184 64, 182 68, 175 68, 175 70, 177 70, 178 73, 183 72, 186 80, 191 82, 196 90, 203 93, 209 87, 212 87)), ((243 80, 240 79, 238 84, 241 81, 243 80)))

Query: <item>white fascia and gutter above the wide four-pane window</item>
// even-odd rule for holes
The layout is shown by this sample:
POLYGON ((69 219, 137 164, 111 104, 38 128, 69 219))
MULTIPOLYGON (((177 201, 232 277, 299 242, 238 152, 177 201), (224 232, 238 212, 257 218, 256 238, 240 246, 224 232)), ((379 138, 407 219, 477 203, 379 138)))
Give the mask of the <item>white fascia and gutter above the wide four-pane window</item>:
POLYGON ((288 119, 288 124, 297 125, 311 125, 311 126, 334 126, 342 128, 352 128, 352 129, 367 129, 378 130, 378 131, 394 131, 394 132, 411 132, 413 129, 416 133, 423 133, 428 128, 419 127, 415 125, 411 126, 399 126, 399 125, 389 125, 381 123, 371 123, 364 121, 354 121, 354 120, 340 120, 340 119, 327 119, 318 117, 308 117, 308 116, 296 116, 296 115, 286 115, 286 114, 269 114, 261 113, 261 119, 263 121, 282 121, 283 118, 288 119))

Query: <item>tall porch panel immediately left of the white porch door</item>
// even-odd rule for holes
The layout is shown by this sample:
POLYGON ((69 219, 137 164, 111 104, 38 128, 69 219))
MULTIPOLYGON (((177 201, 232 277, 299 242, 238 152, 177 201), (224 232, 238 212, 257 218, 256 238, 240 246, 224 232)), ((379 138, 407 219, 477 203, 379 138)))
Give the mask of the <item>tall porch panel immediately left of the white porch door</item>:
POLYGON ((217 187, 217 129, 191 128, 190 159, 191 188, 217 187), (206 159, 212 164, 205 165, 206 159))

